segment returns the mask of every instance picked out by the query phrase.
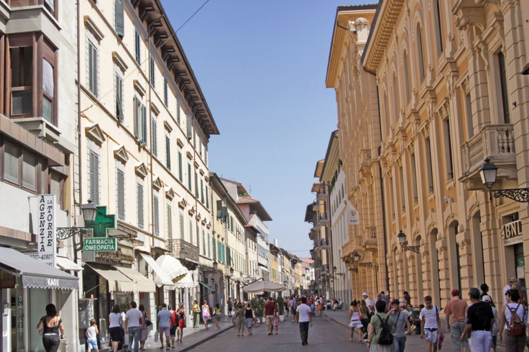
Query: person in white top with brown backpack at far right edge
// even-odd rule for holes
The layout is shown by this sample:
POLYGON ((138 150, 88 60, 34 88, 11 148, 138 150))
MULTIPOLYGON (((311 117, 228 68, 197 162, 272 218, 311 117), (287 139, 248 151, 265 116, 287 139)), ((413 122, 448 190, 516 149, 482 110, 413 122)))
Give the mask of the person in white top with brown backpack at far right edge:
POLYGON ((525 309, 518 303, 520 294, 517 289, 509 289, 506 297, 507 304, 501 308, 499 318, 498 342, 503 340, 508 352, 523 352, 526 344, 525 309))

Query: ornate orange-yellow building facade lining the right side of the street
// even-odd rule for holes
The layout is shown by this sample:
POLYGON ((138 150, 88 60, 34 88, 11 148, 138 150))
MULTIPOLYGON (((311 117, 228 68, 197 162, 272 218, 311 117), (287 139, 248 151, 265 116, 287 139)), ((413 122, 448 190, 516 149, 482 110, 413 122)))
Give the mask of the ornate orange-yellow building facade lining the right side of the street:
POLYGON ((337 94, 347 197, 364 219, 350 227, 342 260, 356 251, 376 272, 359 270, 354 296, 408 291, 414 305, 429 294, 444 307, 451 289, 487 283, 501 302, 512 276, 525 290, 527 203, 490 200, 479 177, 489 158, 495 190, 527 186, 524 14, 519 1, 338 8, 327 87, 337 94))

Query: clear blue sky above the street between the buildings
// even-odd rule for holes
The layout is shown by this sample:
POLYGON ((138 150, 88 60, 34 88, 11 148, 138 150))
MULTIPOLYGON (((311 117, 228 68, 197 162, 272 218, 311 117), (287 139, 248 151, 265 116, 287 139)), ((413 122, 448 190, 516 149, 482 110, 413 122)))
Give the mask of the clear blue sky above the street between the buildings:
MULTIPOLYGON (((162 3, 178 30, 205 0, 162 3)), ((271 241, 298 256, 310 256, 305 209, 338 121, 325 78, 342 4, 209 0, 177 34, 220 131, 209 140, 210 170, 251 188, 273 219, 271 241)))

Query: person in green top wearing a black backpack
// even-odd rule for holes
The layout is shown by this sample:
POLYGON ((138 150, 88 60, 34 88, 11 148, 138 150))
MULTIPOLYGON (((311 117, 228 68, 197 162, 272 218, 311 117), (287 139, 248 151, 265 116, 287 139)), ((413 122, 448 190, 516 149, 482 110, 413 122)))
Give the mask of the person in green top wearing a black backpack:
POLYGON ((395 321, 391 316, 388 316, 386 311, 386 303, 383 300, 375 303, 377 315, 371 317, 369 323, 369 335, 367 338, 367 348, 370 351, 377 352, 393 352, 395 347, 393 345, 393 333, 395 333, 395 321), (371 348, 371 346, 375 348, 371 348))

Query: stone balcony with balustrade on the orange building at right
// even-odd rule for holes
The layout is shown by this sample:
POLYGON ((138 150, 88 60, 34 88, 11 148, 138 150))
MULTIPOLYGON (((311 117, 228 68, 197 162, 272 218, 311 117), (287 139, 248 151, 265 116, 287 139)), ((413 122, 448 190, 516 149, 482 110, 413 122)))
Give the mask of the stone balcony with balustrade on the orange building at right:
MULTIPOLYGON (((463 156, 463 177, 466 179, 475 173, 484 159, 501 167, 506 164, 516 164, 515 135, 512 124, 489 124, 468 142, 461 145, 463 156)), ((479 176, 476 175, 478 178, 479 176)))

